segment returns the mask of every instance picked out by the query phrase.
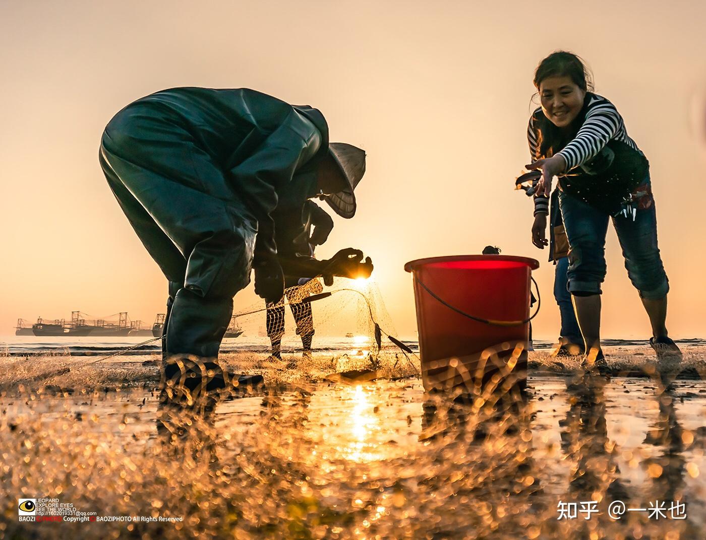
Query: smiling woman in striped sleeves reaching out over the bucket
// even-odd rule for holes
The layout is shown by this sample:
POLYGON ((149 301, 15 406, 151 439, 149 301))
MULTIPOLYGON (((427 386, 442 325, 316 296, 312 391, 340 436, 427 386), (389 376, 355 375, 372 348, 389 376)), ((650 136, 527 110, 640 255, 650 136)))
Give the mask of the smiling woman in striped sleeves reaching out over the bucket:
POLYGON ((645 154, 629 136, 623 118, 608 99, 592 92, 583 61, 556 51, 534 73, 542 106, 530 118, 527 139, 541 169, 535 195, 532 241, 546 244, 546 209, 554 176, 569 243, 568 291, 584 339, 588 364, 605 364, 600 343, 601 284, 606 276, 604 247, 612 218, 623 248, 628 276, 640 292, 650 323, 650 344, 658 356, 680 355, 667 336, 669 291, 657 247, 657 218, 645 154))

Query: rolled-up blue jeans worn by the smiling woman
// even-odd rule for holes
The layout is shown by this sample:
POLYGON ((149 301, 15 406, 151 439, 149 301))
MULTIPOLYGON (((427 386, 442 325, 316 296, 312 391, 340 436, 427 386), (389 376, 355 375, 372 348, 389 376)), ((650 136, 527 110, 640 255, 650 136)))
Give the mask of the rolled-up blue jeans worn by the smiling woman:
MULTIPOLYGON (((648 177, 643 185, 649 183, 648 177)), ((610 216, 564 191, 559 192, 559 205, 570 246, 568 290, 573 295, 599 295, 606 277, 605 245, 610 216)), ((654 199, 649 207, 636 211, 635 221, 623 214, 612 220, 623 248, 628 277, 640 297, 663 298, 669 291, 669 281, 657 247, 654 199)))

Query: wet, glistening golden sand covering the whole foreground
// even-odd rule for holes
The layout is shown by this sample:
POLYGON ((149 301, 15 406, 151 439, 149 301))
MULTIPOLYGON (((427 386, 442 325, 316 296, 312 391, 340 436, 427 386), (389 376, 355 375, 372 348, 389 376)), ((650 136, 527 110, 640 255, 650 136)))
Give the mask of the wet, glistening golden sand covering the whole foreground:
POLYGON ((651 350, 606 352, 607 383, 535 352, 525 399, 465 404, 390 350, 358 384, 325 377, 364 354, 230 354, 265 385, 169 422, 154 355, 0 358, 0 538, 702 538, 706 348, 668 388, 651 350), (181 521, 18 522, 18 498, 181 521), (560 501, 599 513, 559 520, 560 501))

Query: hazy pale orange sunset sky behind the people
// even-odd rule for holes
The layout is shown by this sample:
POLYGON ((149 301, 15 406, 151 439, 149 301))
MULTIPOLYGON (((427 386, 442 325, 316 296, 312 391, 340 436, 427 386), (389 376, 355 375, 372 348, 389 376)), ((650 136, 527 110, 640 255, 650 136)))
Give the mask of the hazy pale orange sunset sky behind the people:
MULTIPOLYGON (((151 322, 166 284, 97 161, 104 125, 175 86, 251 87, 320 109, 331 140, 366 149, 352 220, 323 257, 360 247, 397 330, 416 329, 405 262, 478 253, 535 257, 534 325, 558 334, 554 267, 530 243, 532 75, 555 49, 590 64, 652 168, 670 278, 669 329, 706 335, 706 164, 690 131, 706 74, 706 3, 527 1, 0 2, 0 335, 18 317, 128 311, 151 322)), ((650 335, 616 235, 606 250, 603 334, 650 335)), ((236 297, 250 305, 253 293, 236 297)))

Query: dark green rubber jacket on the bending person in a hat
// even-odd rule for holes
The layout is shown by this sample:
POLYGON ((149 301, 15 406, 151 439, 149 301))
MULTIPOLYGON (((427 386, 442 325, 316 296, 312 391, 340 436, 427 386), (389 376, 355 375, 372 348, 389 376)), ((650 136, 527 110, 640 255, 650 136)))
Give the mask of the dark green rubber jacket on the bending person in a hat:
POLYGON ((138 102, 156 104, 155 110, 176 118, 222 168, 257 223, 255 257, 294 254, 289 240, 304 225, 291 216, 301 216, 316 192, 316 164, 328 152, 328 125, 320 111, 247 88, 172 88, 138 102))

